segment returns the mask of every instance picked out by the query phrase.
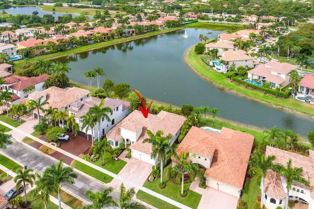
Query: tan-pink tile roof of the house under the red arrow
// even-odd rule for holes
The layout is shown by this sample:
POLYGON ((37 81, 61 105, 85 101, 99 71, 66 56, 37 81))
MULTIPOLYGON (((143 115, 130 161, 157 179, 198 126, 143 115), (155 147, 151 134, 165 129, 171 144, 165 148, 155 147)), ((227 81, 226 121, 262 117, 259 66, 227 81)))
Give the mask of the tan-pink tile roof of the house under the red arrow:
POLYGON ((150 143, 143 143, 143 140, 148 138, 146 130, 149 129, 153 133, 156 133, 158 130, 162 130, 164 136, 167 136, 168 134, 175 136, 176 132, 181 128, 185 120, 186 118, 184 116, 179 116, 165 111, 161 111, 158 115, 148 114, 148 117, 145 118, 140 111, 134 110, 129 116, 124 118, 109 132, 107 132, 106 137, 108 139, 121 139, 122 136, 118 135, 118 129, 123 128, 134 132, 139 130, 140 127, 143 127, 139 138, 130 146, 130 148, 146 154, 151 154, 152 145, 150 143))

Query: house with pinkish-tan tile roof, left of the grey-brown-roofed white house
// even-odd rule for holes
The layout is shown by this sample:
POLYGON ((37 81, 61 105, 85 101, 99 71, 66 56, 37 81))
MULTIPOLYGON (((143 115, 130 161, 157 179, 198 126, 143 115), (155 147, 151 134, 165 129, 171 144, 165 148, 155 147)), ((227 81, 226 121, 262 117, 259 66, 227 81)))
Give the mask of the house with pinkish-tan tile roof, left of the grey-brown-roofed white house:
MULTIPOLYGON (((49 104, 43 106, 44 109, 48 109, 49 107, 57 108, 57 110, 67 110, 71 107, 72 103, 83 101, 88 97, 90 91, 85 89, 80 89, 78 87, 61 89, 58 87, 50 87, 43 91, 37 91, 34 93, 30 93, 27 98, 22 99, 19 103, 27 104, 30 99, 36 100, 43 96, 41 101, 47 101, 49 104)), ((33 117, 38 118, 37 111, 34 111, 33 117)), ((39 111, 40 116, 44 116, 45 114, 39 111)))

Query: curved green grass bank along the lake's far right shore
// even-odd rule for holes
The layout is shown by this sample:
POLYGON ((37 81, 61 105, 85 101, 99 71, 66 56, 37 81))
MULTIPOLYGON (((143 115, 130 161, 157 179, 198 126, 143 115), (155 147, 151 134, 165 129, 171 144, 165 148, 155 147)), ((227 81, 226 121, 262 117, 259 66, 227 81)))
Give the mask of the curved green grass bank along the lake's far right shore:
POLYGON ((201 56, 194 52, 194 47, 191 47, 191 50, 188 52, 187 59, 197 72, 199 72, 205 78, 208 78, 209 80, 219 85, 222 85, 222 89, 231 89, 237 93, 244 94, 252 99, 263 101, 267 104, 274 104, 276 106, 289 108, 301 113, 314 116, 314 105, 292 99, 292 96, 290 96, 288 99, 276 98, 274 95, 253 91, 251 89, 245 88, 244 86, 231 82, 230 79, 227 79, 223 74, 209 68, 201 60, 201 56))

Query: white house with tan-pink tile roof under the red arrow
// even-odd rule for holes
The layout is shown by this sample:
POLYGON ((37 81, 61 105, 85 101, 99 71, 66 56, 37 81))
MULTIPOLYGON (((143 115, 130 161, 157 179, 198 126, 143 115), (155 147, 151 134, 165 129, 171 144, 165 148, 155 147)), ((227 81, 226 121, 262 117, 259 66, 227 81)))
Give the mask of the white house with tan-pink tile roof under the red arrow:
POLYGON ((157 165, 156 159, 151 159, 152 145, 150 143, 143 143, 144 139, 149 138, 146 130, 152 131, 154 134, 161 130, 163 136, 171 134, 173 137, 169 144, 172 145, 180 135, 180 130, 183 122, 186 120, 184 116, 179 116, 173 113, 161 111, 158 115, 148 114, 145 118, 143 114, 134 110, 129 116, 124 118, 107 134, 106 138, 115 146, 119 143, 125 142, 130 144, 131 155, 140 161, 157 165))

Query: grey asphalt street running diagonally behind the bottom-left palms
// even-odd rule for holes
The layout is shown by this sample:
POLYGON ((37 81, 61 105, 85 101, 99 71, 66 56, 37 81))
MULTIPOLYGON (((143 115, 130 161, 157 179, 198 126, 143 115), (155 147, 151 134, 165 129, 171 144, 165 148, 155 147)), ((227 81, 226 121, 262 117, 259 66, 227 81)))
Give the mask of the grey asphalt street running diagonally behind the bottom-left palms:
MULTIPOLYGON (((34 169, 35 172, 42 174, 46 167, 57 163, 58 161, 49 157, 38 150, 32 149, 21 142, 12 139, 12 144, 8 145, 6 149, 1 149, 0 153, 3 153, 21 164, 27 164, 28 168, 34 169)), ((101 191, 105 188, 105 185, 93 180, 79 172, 78 178, 75 180, 75 184, 62 184, 62 189, 72 194, 75 197, 79 197, 85 204, 90 203, 84 192, 86 190, 101 191)), ((118 200, 119 193, 113 190, 110 194, 114 199, 118 200)))

